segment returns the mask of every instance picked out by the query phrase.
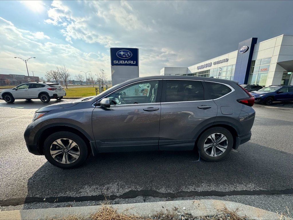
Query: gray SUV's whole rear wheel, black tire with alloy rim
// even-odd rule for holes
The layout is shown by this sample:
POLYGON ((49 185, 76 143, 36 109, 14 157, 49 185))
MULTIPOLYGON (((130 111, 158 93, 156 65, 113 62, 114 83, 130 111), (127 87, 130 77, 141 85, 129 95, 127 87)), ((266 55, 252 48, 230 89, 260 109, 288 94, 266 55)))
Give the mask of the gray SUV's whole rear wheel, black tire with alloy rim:
MULTIPOLYGON (((224 139, 224 137, 223 137, 224 139)), ((222 140, 223 140, 222 139, 222 140)), ((206 161, 220 161, 224 159, 231 151, 233 147, 233 137, 232 134, 223 127, 212 127, 207 129, 205 132, 203 132, 198 141, 197 141, 197 147, 199 149, 200 157, 206 161), (215 143, 212 141, 212 139, 209 137, 210 135, 215 134, 215 143), (222 136, 221 136, 222 135, 222 136), (221 141, 221 137, 225 136, 226 140, 223 142, 221 141), (204 144, 206 146, 211 145, 210 147, 204 148, 204 144), (209 144, 209 145, 207 145, 209 144), (220 146, 218 146, 220 145, 220 146), (221 145, 226 145, 226 149, 224 152, 221 152, 219 149, 224 149, 221 147, 221 145), (215 150, 214 150, 215 149, 215 150), (207 151, 207 153, 206 153, 207 151), (213 154, 215 156, 209 156, 208 153, 213 154), (218 155, 218 156, 217 156, 218 155)))

